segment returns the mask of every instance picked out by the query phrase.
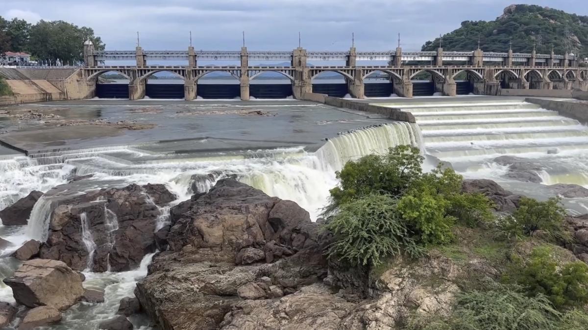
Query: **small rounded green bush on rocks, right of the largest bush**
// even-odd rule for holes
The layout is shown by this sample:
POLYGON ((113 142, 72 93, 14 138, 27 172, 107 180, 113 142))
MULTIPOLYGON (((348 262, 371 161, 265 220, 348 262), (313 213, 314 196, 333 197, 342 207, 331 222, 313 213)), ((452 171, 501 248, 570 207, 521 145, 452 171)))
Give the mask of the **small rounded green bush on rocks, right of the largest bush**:
POLYGON ((522 237, 542 231, 552 240, 569 241, 571 238, 563 228, 566 210, 560 201, 559 197, 552 197, 547 201, 522 197, 519 208, 505 219, 503 227, 506 234, 522 237))

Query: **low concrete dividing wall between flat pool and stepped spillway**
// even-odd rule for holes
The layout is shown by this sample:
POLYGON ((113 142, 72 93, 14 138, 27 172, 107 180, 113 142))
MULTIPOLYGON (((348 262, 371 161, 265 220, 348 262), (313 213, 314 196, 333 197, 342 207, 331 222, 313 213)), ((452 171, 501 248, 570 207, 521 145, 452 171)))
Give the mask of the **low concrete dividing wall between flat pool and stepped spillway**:
POLYGON ((325 94, 317 94, 317 93, 305 93, 304 94, 305 100, 325 103, 326 105, 336 106, 336 107, 345 107, 347 109, 358 110, 363 112, 369 113, 377 113, 378 115, 386 116, 392 120, 397 120, 399 122, 409 122, 415 123, 415 116, 412 115, 410 112, 403 112, 400 109, 392 108, 392 107, 383 107, 378 105, 370 105, 369 103, 365 102, 358 102, 355 100, 349 99, 340 99, 339 97, 331 97, 325 94), (322 102, 324 100, 324 102, 322 102))

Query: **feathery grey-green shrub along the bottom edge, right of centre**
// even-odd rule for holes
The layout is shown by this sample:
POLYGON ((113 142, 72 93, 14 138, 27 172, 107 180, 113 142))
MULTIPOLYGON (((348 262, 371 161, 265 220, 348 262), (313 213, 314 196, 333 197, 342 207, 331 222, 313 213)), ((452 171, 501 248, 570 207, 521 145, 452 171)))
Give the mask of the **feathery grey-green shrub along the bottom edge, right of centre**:
POLYGON ((562 315, 549 300, 527 297, 510 287, 469 291, 457 296, 447 317, 415 316, 407 330, 555 330, 562 315))

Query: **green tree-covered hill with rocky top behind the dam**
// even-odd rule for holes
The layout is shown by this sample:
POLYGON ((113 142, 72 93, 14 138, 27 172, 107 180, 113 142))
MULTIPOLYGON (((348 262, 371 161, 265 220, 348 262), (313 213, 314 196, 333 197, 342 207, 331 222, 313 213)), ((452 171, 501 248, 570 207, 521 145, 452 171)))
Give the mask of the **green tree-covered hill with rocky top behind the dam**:
MULTIPOLYGON (((514 52, 556 54, 566 50, 586 57, 588 54, 588 16, 569 14, 537 5, 510 5, 494 21, 465 21, 442 37, 444 50, 465 51, 480 48, 485 52, 506 52, 512 41, 514 52)), ((439 38, 427 41, 422 50, 435 50, 439 38)))

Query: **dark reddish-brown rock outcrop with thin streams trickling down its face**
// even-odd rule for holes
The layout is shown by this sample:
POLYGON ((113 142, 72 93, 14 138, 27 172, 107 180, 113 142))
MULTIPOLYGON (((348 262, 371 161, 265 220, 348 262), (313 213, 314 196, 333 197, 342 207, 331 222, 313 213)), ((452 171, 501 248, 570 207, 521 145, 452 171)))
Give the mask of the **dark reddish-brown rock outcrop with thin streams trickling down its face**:
POLYGON ((161 184, 131 184, 61 198, 56 201, 40 256, 64 261, 75 270, 131 270, 155 251, 159 206, 174 199, 161 184), (82 240, 82 220, 91 233, 94 251, 88 251, 82 240))

